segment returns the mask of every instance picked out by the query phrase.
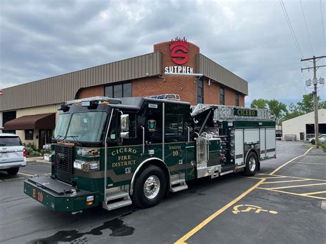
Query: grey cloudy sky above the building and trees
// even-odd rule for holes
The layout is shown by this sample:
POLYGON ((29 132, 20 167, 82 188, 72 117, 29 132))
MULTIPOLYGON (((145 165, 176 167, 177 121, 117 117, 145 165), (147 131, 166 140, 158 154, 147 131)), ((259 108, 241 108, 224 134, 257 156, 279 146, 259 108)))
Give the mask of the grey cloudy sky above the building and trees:
MULTIPOLYGON (((154 43, 186 36, 249 82, 247 105, 255 98, 296 102, 311 92, 305 80, 313 75, 301 73, 312 66, 301 55, 326 54, 326 1, 301 1, 303 10, 299 0, 283 0, 298 50, 279 1, 0 0, 0 89, 153 52, 154 43)), ((326 87, 320 96, 326 100, 326 87)))

